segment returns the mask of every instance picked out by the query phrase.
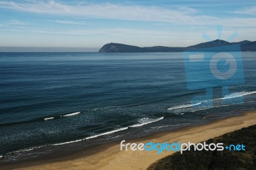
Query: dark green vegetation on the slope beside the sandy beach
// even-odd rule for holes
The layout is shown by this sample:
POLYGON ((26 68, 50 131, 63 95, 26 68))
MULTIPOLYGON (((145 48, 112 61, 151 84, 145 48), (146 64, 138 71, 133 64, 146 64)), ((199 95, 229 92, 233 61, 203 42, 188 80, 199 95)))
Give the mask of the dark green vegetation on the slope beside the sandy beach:
POLYGON ((157 169, 256 169, 256 125, 209 139, 206 143, 244 144, 245 151, 176 152, 148 167, 157 169))

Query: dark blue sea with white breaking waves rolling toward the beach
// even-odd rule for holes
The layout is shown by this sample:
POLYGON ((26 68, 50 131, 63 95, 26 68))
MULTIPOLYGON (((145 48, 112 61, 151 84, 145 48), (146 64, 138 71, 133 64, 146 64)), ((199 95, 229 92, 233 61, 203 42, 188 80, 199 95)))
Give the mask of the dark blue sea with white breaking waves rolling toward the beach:
POLYGON ((212 99, 191 104, 205 89, 188 90, 182 52, 1 52, 0 162, 81 150, 252 111, 256 52, 242 56, 245 83, 228 86, 225 96, 221 87, 214 87, 212 99), (207 102, 212 107, 200 107, 207 102))

